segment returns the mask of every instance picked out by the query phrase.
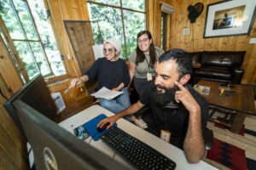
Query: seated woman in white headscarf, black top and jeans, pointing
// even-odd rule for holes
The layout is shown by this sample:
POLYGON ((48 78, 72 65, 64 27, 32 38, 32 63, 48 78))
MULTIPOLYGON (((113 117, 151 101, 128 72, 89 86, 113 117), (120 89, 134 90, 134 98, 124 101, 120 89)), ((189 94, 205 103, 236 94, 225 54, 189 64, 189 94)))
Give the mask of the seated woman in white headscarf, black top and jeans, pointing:
MULTIPOLYGON (((125 60, 119 59, 121 54, 121 44, 115 39, 108 39, 103 45, 103 54, 105 57, 96 59, 94 64, 86 71, 82 77, 71 80, 71 85, 90 82, 97 77, 98 87, 121 91, 123 94, 115 99, 99 98, 103 108, 112 111, 114 114, 125 110, 131 105, 130 97, 126 87, 130 82, 130 75, 125 60)), ((126 116, 126 120, 137 122, 135 116, 126 116)))

